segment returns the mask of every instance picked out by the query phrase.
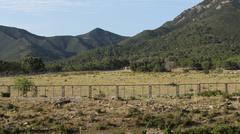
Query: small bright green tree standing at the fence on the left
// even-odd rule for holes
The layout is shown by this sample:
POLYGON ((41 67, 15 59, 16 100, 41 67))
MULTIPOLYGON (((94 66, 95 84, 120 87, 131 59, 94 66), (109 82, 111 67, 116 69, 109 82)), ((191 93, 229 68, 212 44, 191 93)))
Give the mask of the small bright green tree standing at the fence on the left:
POLYGON ((27 96, 27 92, 31 91, 34 83, 28 78, 18 78, 15 80, 16 89, 22 91, 22 96, 27 96))

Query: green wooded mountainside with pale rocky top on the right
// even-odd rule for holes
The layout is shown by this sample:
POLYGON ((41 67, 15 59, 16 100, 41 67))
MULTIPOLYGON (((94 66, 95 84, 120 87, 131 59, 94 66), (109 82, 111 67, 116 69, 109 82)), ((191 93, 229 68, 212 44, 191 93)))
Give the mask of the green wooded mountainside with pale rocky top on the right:
POLYGON ((205 0, 158 29, 144 31, 116 46, 81 53, 69 59, 66 67, 114 69, 129 65, 126 61, 143 66, 143 70, 153 70, 167 61, 177 66, 210 61, 221 66, 240 56, 239 31, 239 0, 205 0), (112 67, 116 61, 124 64, 112 67))

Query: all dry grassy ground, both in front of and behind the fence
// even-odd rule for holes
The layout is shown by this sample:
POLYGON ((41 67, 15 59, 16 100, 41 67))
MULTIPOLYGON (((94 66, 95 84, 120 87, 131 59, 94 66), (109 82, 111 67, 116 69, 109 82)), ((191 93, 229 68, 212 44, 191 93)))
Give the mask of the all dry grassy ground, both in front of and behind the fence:
MULTIPOLYGON (((240 82, 240 74, 232 72, 204 74, 200 72, 133 73, 110 71, 68 72, 18 77, 28 77, 36 85, 240 82)), ((1 77, 0 85, 12 85, 16 78, 1 77)), ((214 85, 210 85, 210 89, 214 87, 214 85)), ((190 91, 192 88, 187 87, 186 89, 190 91)), ((224 86, 218 88, 224 88, 224 86)), ((240 91, 240 87, 237 88, 240 91)), ((51 98, 54 95, 61 96, 61 86, 52 89, 54 88, 49 87, 47 90, 43 88, 39 92, 39 96, 41 96, 46 90, 46 96, 50 98, 45 98, 46 96, 39 98, 0 97, 0 133, 155 134, 165 132, 171 134, 178 132, 179 134, 187 134, 192 131, 208 133, 221 132, 222 130, 224 132, 240 132, 238 131, 240 129, 238 127, 240 125, 240 99, 238 97, 240 94, 225 96, 225 94, 210 91, 203 93, 203 96, 160 96, 149 99, 147 97, 148 90, 146 90, 144 99, 139 99, 131 98, 131 95, 134 91, 136 96, 140 96, 140 90, 130 87, 126 90, 126 94, 130 97, 117 100, 116 98, 99 96, 102 94, 115 95, 116 87, 114 86, 112 92, 109 92, 110 89, 103 92, 104 89, 99 90, 94 87, 94 98, 89 100, 88 86, 83 89, 82 93, 85 93, 86 97, 82 98, 51 98)), ((78 88, 75 89, 76 94, 74 93, 74 95, 81 93, 78 88)), ((146 87, 146 89, 148 88, 146 87)), ((156 89, 153 88, 153 96, 157 96, 159 93, 159 89, 156 89)), ((172 93, 176 93, 175 89, 176 87, 173 86, 172 89, 167 87, 167 90, 163 91, 166 93, 171 90, 172 93)), ((205 85, 203 85, 202 91, 205 91, 204 89, 208 91, 205 85)), ((71 96, 71 91, 73 91, 71 87, 66 89, 66 97, 71 96)), ((161 92, 161 95, 164 92, 161 92)), ((123 95, 123 92, 120 92, 120 95, 123 95)))

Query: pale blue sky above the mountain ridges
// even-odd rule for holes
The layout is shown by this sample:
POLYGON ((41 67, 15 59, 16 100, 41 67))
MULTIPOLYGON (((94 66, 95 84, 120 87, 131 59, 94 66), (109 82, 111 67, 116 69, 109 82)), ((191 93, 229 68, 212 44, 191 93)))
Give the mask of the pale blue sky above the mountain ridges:
POLYGON ((0 0, 0 25, 42 36, 102 28, 133 36, 160 27, 202 0, 0 0))

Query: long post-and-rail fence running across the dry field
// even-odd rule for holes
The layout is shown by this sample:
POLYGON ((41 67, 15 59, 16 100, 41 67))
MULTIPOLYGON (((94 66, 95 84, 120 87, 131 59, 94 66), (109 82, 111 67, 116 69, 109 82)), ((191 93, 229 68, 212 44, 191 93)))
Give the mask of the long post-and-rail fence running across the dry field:
MULTIPOLYGON (((0 93, 20 97, 15 85, 0 85, 0 93)), ((204 91, 219 90, 228 94, 240 93, 240 83, 182 83, 182 84, 116 84, 116 85, 35 85, 27 96, 33 97, 116 97, 155 98, 179 97, 204 91)))

